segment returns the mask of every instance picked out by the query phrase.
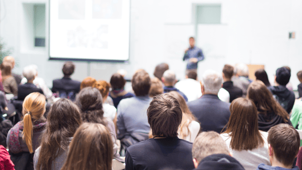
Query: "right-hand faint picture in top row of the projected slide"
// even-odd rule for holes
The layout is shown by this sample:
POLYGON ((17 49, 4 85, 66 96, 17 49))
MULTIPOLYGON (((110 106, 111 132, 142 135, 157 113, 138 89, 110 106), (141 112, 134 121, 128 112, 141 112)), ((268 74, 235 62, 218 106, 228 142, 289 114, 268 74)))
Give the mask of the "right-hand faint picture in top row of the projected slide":
POLYGON ((93 0, 93 19, 121 19, 122 0, 93 0))

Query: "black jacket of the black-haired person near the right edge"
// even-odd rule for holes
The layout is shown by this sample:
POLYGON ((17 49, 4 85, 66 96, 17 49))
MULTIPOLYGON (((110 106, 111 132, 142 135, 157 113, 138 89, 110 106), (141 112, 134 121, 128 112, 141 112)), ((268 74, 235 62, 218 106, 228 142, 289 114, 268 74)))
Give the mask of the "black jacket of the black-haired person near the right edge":
POLYGON ((281 85, 270 87, 269 90, 286 112, 290 113, 295 100, 293 92, 281 85))

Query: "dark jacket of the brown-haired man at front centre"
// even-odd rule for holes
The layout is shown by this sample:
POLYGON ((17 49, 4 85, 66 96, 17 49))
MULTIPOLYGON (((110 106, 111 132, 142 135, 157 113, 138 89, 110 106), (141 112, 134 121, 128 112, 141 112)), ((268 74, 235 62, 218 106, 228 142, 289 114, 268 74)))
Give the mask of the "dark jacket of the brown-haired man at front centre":
POLYGON ((147 139, 127 148, 125 170, 194 169, 192 143, 178 137, 147 139))

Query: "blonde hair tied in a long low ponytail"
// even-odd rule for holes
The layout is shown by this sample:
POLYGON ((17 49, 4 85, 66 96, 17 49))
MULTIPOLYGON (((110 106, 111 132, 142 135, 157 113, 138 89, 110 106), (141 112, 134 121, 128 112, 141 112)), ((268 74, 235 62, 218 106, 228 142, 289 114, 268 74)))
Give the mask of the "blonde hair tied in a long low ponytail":
POLYGON ((23 102, 22 113, 24 129, 22 132, 22 139, 26 142, 26 145, 30 151, 33 153, 33 122, 40 119, 46 111, 46 98, 44 95, 34 92, 29 94, 23 102))

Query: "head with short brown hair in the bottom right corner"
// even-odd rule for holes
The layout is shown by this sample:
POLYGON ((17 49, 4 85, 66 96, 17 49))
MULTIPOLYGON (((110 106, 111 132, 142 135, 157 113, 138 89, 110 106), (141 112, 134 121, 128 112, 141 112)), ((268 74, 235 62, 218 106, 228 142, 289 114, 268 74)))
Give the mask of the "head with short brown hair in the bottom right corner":
POLYGON ((292 165, 300 146, 299 133, 288 124, 278 124, 268 131, 269 159, 284 166, 292 165))

